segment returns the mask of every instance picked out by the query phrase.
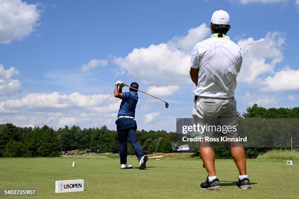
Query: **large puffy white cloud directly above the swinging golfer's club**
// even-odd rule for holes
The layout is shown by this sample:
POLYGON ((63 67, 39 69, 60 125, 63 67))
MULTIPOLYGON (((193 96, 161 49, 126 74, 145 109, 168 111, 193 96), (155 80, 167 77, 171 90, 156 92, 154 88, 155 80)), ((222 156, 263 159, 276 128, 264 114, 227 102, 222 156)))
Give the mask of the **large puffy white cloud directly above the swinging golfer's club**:
POLYGON ((190 56, 166 43, 135 48, 126 58, 114 61, 143 83, 186 82, 190 67, 190 56))

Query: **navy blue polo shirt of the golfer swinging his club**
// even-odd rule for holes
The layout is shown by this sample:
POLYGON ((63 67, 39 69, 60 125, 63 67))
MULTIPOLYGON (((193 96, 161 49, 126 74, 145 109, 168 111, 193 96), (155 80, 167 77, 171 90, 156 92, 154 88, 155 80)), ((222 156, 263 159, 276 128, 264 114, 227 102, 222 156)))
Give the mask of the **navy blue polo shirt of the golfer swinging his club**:
POLYGON ((137 92, 125 92, 123 94, 123 100, 119 108, 117 117, 131 116, 135 117, 135 108, 138 102, 137 92))

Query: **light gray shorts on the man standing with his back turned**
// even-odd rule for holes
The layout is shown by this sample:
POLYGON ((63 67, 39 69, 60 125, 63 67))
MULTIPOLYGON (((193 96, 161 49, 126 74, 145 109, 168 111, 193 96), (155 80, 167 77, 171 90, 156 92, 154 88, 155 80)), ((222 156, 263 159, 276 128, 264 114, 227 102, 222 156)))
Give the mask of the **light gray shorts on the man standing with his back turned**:
POLYGON ((235 98, 216 99, 200 96, 196 100, 195 98, 192 111, 194 123, 207 126, 206 130, 198 132, 199 137, 226 136, 237 138, 235 98), (235 128, 233 128, 234 126, 235 128))

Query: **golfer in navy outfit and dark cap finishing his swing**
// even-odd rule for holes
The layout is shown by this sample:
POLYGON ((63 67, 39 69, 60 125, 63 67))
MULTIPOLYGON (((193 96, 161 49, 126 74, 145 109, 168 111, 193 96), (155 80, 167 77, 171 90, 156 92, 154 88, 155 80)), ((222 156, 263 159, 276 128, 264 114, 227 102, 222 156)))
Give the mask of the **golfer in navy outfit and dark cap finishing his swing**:
POLYGON ((117 134, 119 139, 119 155, 121 169, 130 169, 133 166, 127 162, 127 141, 133 147, 137 159, 139 161, 139 169, 145 169, 147 166, 148 157, 142 152, 140 145, 137 142, 136 129, 137 124, 134 120, 135 108, 138 102, 138 83, 132 82, 129 87, 129 92, 122 92, 122 88, 126 85, 123 81, 116 81, 114 87, 114 97, 122 100, 117 117, 115 121, 117 134))

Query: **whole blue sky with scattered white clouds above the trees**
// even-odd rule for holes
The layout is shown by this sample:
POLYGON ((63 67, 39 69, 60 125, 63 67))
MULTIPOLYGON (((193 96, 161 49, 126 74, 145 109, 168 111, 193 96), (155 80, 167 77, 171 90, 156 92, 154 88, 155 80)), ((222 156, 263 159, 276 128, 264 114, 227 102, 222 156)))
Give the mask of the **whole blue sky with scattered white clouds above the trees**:
POLYGON ((138 128, 174 131, 192 117, 190 48, 218 9, 244 51, 237 110, 298 106, 299 0, 0 0, 0 122, 115 129, 123 80, 170 102, 140 93, 138 128))

